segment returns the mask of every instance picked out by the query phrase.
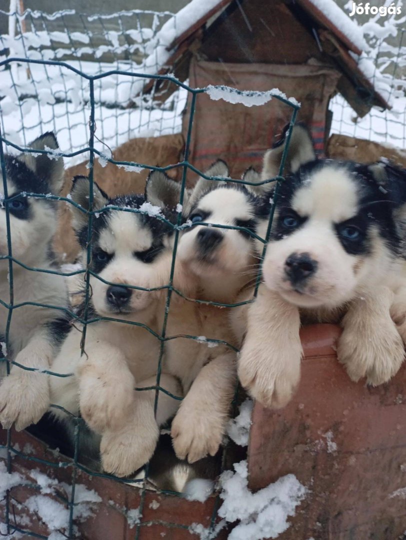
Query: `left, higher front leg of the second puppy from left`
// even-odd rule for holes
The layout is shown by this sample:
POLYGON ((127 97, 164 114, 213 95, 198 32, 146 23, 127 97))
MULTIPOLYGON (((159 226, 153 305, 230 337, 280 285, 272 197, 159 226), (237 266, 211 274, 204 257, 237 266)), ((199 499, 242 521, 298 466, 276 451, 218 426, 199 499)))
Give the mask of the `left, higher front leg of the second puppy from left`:
POLYGON ((134 401, 136 381, 123 353, 110 343, 90 342, 86 354, 77 372, 80 413, 96 433, 117 429, 134 401))

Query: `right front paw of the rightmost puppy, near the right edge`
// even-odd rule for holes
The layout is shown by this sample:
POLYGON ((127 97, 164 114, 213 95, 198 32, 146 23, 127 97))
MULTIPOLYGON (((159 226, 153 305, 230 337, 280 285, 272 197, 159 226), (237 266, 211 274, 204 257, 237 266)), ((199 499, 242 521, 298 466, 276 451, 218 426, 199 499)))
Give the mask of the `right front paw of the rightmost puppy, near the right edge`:
POLYGON ((346 326, 337 347, 337 357, 354 382, 366 377, 377 386, 389 381, 404 360, 404 346, 392 320, 376 324, 369 334, 346 326))

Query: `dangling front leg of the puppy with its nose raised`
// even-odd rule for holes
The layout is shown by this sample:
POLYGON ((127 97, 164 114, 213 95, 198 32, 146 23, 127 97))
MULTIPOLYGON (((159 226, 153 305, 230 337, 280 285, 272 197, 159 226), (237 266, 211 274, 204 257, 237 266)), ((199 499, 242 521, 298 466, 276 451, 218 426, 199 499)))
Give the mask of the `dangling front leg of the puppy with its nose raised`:
POLYGON ((189 463, 218 451, 235 392, 235 353, 221 354, 204 366, 172 422, 175 454, 189 463))

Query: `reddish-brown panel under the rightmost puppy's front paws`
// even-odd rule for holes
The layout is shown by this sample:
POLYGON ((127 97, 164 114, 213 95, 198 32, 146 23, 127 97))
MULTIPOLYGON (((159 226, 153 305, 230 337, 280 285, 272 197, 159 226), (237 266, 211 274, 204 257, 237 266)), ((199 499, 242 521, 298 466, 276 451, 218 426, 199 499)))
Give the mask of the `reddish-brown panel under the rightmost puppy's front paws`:
POLYGON ((396 491, 406 484, 406 365, 376 388, 351 382, 336 359, 339 333, 333 325, 303 328, 293 400, 281 410, 254 407, 250 487, 293 473, 309 488, 280 540, 394 540, 405 530, 396 491))

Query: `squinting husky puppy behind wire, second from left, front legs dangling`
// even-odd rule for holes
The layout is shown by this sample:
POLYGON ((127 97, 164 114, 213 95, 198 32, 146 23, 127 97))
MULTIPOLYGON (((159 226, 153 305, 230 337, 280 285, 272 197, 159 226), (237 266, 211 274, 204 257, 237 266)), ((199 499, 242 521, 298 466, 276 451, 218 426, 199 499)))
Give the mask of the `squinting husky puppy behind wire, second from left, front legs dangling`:
MULTIPOLYGON (((173 185, 177 187, 174 199, 166 197, 162 206, 156 208, 143 195, 109 199, 94 184, 91 298, 87 309, 90 322, 84 354, 81 355, 83 326, 78 324, 71 329, 52 364, 54 372, 73 375, 51 377, 51 403, 73 415, 80 411, 87 426, 101 436, 103 469, 118 476, 133 473, 150 459, 159 425, 173 416, 178 406, 178 401, 160 393, 155 420, 155 390, 135 390, 154 387, 157 381, 162 331, 157 313, 165 311, 167 289, 149 289, 168 285, 172 261, 168 238, 172 228, 153 215, 160 211, 166 218, 171 212, 176 215, 173 209, 179 200, 179 186, 174 182, 173 185), (151 215, 128 212, 131 209, 149 211, 151 215)), ((153 196, 152 188, 150 192, 153 196)), ((83 209, 73 205, 71 208, 86 267, 87 178, 73 180, 71 198, 83 209)), ((79 309, 79 315, 84 314, 85 304, 79 309)), ((160 385, 171 394, 180 395, 179 383, 172 375, 162 373, 160 385)), ((51 411, 66 420, 59 409, 51 411)))

